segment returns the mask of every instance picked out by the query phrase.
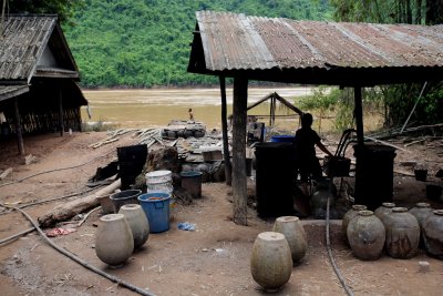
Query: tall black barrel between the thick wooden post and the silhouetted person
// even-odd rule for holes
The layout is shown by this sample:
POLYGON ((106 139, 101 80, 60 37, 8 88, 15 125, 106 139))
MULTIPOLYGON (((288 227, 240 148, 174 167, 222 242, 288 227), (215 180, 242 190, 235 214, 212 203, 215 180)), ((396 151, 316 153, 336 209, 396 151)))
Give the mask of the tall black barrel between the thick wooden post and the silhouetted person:
POLYGON ((256 195, 260 217, 293 214, 293 153, 291 143, 256 145, 256 195))

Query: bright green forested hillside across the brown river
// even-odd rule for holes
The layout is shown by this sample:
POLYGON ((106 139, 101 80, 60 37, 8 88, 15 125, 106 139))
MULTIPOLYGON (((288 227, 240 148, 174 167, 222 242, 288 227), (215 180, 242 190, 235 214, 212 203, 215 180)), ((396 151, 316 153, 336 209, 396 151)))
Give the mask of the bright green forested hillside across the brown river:
POLYGON ((299 20, 330 19, 328 0, 85 0, 63 28, 82 85, 151 88, 212 84, 186 72, 195 11, 299 20))

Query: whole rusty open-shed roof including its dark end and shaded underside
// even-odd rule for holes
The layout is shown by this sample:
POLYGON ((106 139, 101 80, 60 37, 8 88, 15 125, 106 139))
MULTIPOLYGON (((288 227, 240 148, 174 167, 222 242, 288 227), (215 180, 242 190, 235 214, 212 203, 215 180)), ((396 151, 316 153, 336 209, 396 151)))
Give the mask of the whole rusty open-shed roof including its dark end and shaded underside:
POLYGON ((198 11, 188 71, 374 85, 443 79, 443 25, 296 21, 198 11))

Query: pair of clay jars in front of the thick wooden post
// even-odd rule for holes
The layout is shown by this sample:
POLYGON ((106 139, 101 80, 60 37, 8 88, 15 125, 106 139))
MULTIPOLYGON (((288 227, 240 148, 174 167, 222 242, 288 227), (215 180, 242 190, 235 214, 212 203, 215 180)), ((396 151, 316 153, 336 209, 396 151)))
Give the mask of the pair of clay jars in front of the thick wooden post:
POLYGON ((250 272, 267 292, 282 287, 290 278, 292 265, 306 254, 305 229, 296 216, 278 217, 272 232, 260 233, 253 246, 250 272))

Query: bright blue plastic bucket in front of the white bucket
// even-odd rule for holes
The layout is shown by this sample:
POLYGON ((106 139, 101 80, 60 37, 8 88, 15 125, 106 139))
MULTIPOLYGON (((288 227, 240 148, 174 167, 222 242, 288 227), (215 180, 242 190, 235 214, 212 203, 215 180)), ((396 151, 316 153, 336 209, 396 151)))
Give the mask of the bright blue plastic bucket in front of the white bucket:
POLYGON ((169 201, 171 194, 164 192, 150 192, 138 196, 151 233, 162 233, 169 229, 169 201))

